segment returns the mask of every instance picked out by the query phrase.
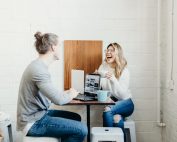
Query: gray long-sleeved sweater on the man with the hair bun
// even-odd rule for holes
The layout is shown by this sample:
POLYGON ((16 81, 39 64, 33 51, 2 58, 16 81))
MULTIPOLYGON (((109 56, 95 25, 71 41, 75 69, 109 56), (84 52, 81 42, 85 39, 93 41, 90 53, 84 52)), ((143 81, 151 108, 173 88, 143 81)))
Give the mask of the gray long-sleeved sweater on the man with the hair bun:
POLYGON ((30 123, 42 118, 51 102, 62 105, 72 97, 59 92, 51 82, 48 67, 40 59, 33 61, 23 73, 17 103, 17 130, 22 131, 30 123))

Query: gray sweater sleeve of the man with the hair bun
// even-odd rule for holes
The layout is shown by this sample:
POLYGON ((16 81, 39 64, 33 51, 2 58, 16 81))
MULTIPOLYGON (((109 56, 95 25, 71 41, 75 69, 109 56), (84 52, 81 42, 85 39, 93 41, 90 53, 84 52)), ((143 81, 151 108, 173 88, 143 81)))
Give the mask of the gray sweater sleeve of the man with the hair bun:
POLYGON ((35 73, 33 75, 33 81, 39 91, 56 105, 66 104, 73 99, 72 95, 67 93, 67 91, 58 91, 58 89, 52 84, 51 77, 48 72, 43 71, 35 73))

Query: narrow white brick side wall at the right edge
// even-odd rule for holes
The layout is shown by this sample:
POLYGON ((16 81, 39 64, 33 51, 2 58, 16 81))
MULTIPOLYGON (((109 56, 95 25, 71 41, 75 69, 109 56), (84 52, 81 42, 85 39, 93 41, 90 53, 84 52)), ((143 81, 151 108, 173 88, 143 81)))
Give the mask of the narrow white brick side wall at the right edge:
POLYGON ((162 24, 161 24, 161 92, 162 92, 162 110, 163 120, 166 127, 163 129, 163 142, 177 141, 177 2, 174 0, 174 17, 173 17, 173 80, 174 90, 169 89, 169 81, 171 79, 172 70, 172 0, 162 1, 162 24))

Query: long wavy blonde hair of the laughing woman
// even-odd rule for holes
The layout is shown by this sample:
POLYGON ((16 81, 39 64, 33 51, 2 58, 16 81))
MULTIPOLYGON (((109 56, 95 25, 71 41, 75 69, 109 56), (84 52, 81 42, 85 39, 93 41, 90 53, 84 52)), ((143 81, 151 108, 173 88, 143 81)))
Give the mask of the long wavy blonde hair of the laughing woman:
POLYGON ((127 65, 127 60, 125 59, 124 55, 123 55, 123 50, 122 47, 118 44, 118 43, 110 43, 107 46, 107 49, 112 46, 116 52, 116 59, 115 59, 115 77, 119 78, 122 74, 122 71, 124 70, 124 68, 127 65))

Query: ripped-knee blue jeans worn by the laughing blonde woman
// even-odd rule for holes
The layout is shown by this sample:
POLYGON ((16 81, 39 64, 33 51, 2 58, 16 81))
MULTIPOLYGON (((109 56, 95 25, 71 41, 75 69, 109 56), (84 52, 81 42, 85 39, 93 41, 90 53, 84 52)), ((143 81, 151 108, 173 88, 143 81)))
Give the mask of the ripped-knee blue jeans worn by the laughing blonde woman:
POLYGON ((103 112, 104 127, 120 127, 124 131, 124 119, 130 116, 134 111, 134 104, 131 99, 117 101, 115 105, 110 106, 110 111, 103 112), (121 120, 114 123, 114 115, 119 114, 121 120))

